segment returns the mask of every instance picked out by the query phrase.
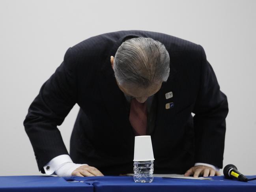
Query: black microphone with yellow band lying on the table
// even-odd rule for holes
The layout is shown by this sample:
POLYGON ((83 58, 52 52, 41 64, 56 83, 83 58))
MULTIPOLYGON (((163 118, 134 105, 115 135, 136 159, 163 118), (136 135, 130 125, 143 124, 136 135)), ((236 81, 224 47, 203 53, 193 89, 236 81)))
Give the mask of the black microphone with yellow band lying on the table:
POLYGON ((224 173, 224 176, 226 179, 237 179, 238 181, 244 181, 244 182, 248 181, 248 179, 245 177, 245 175, 243 175, 239 171, 237 171, 236 166, 234 166, 232 164, 225 166, 223 173, 224 173))

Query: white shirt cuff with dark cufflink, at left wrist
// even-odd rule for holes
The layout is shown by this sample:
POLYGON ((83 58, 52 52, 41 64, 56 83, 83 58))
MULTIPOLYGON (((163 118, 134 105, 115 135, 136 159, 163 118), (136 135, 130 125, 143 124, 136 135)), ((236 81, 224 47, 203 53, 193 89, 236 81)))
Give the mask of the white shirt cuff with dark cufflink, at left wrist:
POLYGON ((57 157, 54 157, 52 160, 50 160, 49 163, 47 163, 43 169, 45 170, 45 173, 47 175, 52 175, 54 171, 58 170, 63 164, 67 162, 72 162, 72 159, 69 157, 69 155, 59 155, 57 157))

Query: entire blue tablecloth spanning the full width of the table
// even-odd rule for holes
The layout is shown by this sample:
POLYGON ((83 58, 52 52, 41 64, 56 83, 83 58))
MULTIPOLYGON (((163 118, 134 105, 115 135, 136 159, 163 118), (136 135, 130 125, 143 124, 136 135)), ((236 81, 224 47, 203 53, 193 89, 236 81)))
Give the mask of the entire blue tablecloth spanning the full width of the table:
MULTIPOLYGON (((252 178, 256 176, 248 176, 252 178)), ((0 177, 0 192, 256 192, 256 180, 240 182, 212 177, 213 180, 190 180, 155 177, 152 183, 135 183, 133 177, 0 177)))

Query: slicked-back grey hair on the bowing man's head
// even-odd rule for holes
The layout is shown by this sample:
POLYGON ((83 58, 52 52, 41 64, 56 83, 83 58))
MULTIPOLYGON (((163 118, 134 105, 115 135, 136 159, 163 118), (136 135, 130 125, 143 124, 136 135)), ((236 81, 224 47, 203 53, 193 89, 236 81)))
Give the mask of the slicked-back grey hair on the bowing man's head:
POLYGON ((170 57, 164 45, 152 38, 138 37, 124 41, 114 57, 118 84, 148 88, 166 81, 170 57))

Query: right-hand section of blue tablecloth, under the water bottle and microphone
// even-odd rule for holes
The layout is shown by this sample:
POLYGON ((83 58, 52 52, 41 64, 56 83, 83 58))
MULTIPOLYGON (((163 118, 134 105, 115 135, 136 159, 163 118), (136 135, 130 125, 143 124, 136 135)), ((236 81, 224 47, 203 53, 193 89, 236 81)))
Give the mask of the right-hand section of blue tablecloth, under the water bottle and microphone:
MULTIPOLYGON (((248 176, 252 178, 256 176, 248 176)), ((73 177, 92 182, 94 192, 256 192, 256 181, 247 183, 211 177, 213 180, 172 179, 154 177, 152 183, 135 183, 133 177, 73 177)), ((70 178, 71 179, 71 178, 70 178)))

